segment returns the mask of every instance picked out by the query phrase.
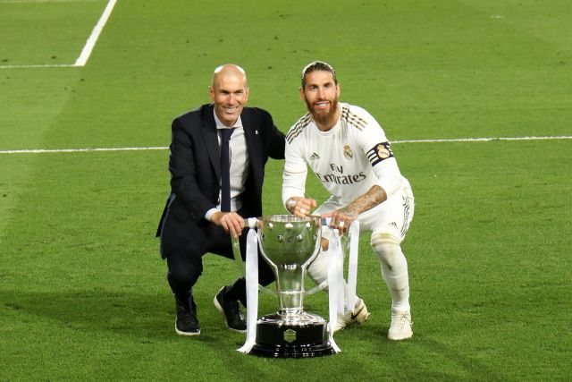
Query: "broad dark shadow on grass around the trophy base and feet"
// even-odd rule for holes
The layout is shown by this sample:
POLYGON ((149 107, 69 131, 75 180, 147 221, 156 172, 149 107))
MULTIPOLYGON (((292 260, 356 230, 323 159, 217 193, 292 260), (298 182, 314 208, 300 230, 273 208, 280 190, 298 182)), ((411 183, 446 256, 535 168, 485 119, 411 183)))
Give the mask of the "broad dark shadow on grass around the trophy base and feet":
MULTIPOLYGON (((202 333, 192 338, 175 335, 174 306, 170 296, 105 290, 83 293, 3 291, 0 301, 3 310, 12 311, 11 316, 21 318, 21 323, 34 325, 39 321, 55 326, 55 330, 63 335, 68 330, 105 335, 116 343, 135 344, 139 351, 150 346, 148 349, 154 349, 165 361, 199 362, 204 366, 210 364, 212 368, 222 366, 219 362, 223 362, 228 369, 222 376, 237 380, 252 372, 261 378, 287 378, 291 377, 292 368, 302 368, 299 369, 300 376, 310 380, 318 375, 356 377, 350 370, 359 370, 360 378, 365 379, 502 379, 498 370, 475 361, 470 352, 459 352, 458 348, 423 333, 416 333, 414 339, 407 342, 391 342, 386 337, 386 323, 378 324, 377 320, 349 327, 336 335, 342 349, 340 354, 311 360, 270 360, 237 352, 245 336, 224 327, 223 318, 213 306, 208 306, 207 300, 200 302, 198 310, 202 333)), ((82 341, 89 345, 88 338, 82 341)))

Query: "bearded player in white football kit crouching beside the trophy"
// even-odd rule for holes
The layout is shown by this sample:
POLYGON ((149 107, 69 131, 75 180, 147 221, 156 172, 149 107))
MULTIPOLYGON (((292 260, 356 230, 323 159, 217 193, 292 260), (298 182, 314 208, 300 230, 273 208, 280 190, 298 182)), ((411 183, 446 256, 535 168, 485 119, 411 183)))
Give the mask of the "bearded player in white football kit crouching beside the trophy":
MULTIPOLYGON (((413 335, 409 307, 408 263, 400 243, 413 217, 414 199, 408 180, 400 174, 390 143, 379 123, 358 106, 339 103, 340 86, 331 65, 315 61, 302 72, 300 96, 309 113, 286 136, 282 201, 290 213, 310 215, 317 206, 305 197, 309 166, 332 196, 312 215, 331 217, 330 228, 348 232, 354 220, 371 232, 371 246, 381 261, 382 276, 391 293, 388 338, 413 335)), ((324 228, 325 229, 325 228, 324 228)), ((328 251, 320 252, 308 275, 322 283, 328 276, 328 251)), ((338 318, 339 330, 369 316, 363 300, 338 318)))

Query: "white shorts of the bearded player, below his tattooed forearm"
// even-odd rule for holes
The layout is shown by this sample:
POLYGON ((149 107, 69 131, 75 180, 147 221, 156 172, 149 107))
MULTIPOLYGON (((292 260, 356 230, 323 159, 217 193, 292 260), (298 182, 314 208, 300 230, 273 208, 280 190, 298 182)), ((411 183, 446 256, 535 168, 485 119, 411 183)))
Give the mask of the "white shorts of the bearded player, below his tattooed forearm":
MULTIPOLYGON (((346 207, 346 204, 331 197, 318 207, 313 215, 324 215, 343 207, 346 207)), ((371 231, 372 235, 390 233, 396 240, 402 242, 413 219, 414 210, 413 191, 406 184, 380 205, 359 214, 356 219, 359 222, 359 231, 371 231)))

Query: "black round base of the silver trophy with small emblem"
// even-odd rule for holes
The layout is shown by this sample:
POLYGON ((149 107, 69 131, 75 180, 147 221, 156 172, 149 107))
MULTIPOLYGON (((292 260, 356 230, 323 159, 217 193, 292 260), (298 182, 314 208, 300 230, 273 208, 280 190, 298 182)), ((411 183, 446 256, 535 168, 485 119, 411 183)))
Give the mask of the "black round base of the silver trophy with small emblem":
POLYGON ((305 325, 257 323, 257 342, 249 354, 268 358, 310 358, 334 354, 325 322, 305 325))

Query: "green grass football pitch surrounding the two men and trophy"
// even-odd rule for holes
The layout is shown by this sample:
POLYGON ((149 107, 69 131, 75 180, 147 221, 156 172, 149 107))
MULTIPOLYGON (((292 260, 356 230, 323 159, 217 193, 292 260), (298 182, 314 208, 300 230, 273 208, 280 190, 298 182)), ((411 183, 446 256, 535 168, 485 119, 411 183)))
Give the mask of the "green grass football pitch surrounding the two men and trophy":
MULTIPOLYGON (((565 0, 119 0, 86 66, 18 67, 73 64, 106 4, 0 0, 0 151, 167 146, 172 117, 208 102, 228 62, 286 132, 314 59, 391 140, 572 135, 565 0)), ((363 236, 372 316, 309 360, 236 351, 244 335, 212 300, 237 270, 215 256, 195 288, 201 335, 175 335, 154 238, 166 150, 0 154, 0 380, 569 380, 572 140, 393 149, 416 196, 415 335, 387 340, 363 236)), ((282 163, 266 174, 265 213, 283 213, 282 163)), ((325 197, 315 180, 307 191, 325 197)), ((260 314, 275 307, 261 296, 260 314)), ((325 293, 306 308, 327 315, 325 293)))

